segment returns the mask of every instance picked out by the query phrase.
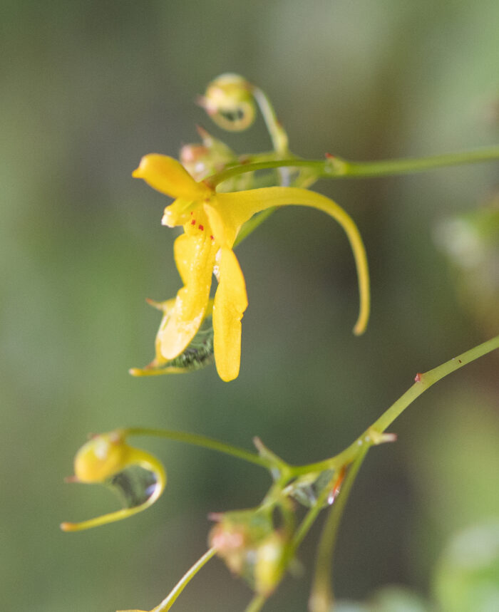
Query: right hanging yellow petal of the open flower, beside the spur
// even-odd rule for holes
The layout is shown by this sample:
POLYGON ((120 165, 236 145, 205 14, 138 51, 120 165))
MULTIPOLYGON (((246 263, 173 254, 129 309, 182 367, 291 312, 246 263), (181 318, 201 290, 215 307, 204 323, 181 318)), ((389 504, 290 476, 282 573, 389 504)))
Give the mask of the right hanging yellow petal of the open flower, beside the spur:
POLYGON ((220 284, 213 306, 215 363, 222 380, 234 380, 241 360, 241 319, 248 301, 245 277, 232 249, 222 247, 217 254, 220 284))

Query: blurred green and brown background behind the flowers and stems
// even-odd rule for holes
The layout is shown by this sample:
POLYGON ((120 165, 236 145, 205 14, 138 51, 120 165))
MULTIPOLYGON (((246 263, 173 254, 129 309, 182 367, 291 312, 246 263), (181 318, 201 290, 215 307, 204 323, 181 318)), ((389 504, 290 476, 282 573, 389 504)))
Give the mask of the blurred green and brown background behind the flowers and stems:
MULTIPOLYGON (((180 282, 176 232, 160 225, 166 200, 130 172, 147 152, 195 142, 195 124, 238 152, 269 148, 261 119, 225 135, 195 105, 225 71, 267 91, 299 155, 491 145, 499 4, 1 0, 0 12, 1 606, 150 609, 205 550, 207 513, 257 504, 267 474, 136 440, 167 466, 160 502, 63 534, 62 520, 115 507, 106 489, 63 484, 88 432, 170 427, 247 448, 259 435, 290 462, 339 452, 417 371, 498 333, 494 245, 470 230, 497 197, 498 165, 316 186, 364 235, 373 312, 361 338, 341 229, 308 209, 275 214, 238 249, 250 305, 229 384, 215 368, 127 373, 153 356, 159 315, 145 298, 180 282), (472 222, 453 234, 459 215, 472 222)), ((393 425, 396 444, 371 451, 339 536, 341 598, 385 584, 431 596, 453 534, 498 519, 498 378, 497 355, 446 378, 393 425)), ((304 575, 288 577, 269 610, 305 609, 318 534, 300 553, 304 575)), ((237 611, 249 598, 215 560, 175 610, 237 611)))

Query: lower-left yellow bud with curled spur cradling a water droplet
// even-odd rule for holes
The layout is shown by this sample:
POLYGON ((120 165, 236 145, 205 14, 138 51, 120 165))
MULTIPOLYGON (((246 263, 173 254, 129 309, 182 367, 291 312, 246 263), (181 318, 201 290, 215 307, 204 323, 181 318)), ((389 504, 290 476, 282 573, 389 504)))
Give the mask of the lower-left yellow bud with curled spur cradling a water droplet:
POLYGON ((62 523, 63 531, 81 531, 130 517, 154 504, 166 485, 163 465, 125 442, 125 430, 96 435, 76 453, 75 475, 68 482, 100 482, 114 489, 125 507, 81 523, 62 523))

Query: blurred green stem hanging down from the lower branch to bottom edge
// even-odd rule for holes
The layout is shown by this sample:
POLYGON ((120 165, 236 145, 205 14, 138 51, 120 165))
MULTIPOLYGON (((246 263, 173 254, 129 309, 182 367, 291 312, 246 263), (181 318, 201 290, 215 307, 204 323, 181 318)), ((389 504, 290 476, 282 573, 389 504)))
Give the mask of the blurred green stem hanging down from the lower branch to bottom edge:
POLYGON ((324 524, 324 529, 322 530, 321 539, 319 541, 319 549, 317 551, 314 583, 312 585, 312 593, 310 594, 309 600, 310 612, 328 612, 331 610, 331 603, 333 602, 331 573, 336 535, 338 534, 339 524, 346 507, 346 502, 349 498, 352 484, 354 484, 357 472, 359 472, 359 468, 370 446, 369 444, 362 445, 359 454, 356 456, 346 474, 343 484, 341 484, 338 499, 335 500, 329 512, 329 516, 326 519, 326 524, 324 524))

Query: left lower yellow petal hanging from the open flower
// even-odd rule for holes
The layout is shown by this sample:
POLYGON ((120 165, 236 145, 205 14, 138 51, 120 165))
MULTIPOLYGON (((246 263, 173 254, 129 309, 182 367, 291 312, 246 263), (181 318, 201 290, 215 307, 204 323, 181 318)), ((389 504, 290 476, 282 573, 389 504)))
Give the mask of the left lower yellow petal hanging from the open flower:
POLYGON ((179 245, 175 244, 175 259, 184 286, 178 291, 170 316, 163 319, 164 328, 158 331, 165 359, 173 359, 184 351, 205 318, 217 248, 205 231, 180 238, 179 245))

